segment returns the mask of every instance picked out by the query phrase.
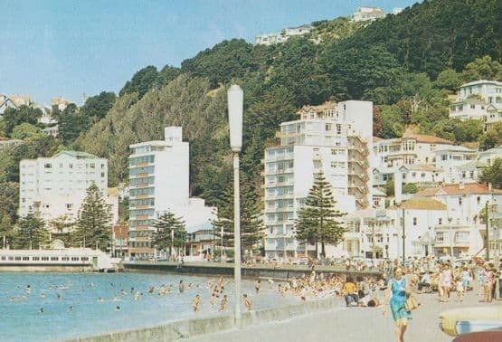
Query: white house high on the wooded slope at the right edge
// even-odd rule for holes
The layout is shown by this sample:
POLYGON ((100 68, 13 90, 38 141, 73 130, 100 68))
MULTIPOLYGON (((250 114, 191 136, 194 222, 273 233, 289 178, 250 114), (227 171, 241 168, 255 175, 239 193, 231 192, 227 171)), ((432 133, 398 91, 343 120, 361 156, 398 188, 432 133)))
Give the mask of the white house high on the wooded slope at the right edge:
POLYGON ((453 119, 482 119, 489 124, 501 119, 498 109, 502 105, 502 82, 473 81, 460 86, 457 97, 450 103, 450 118, 453 119), (488 118, 488 106, 493 117, 488 118), (490 108, 491 108, 490 107, 490 108))

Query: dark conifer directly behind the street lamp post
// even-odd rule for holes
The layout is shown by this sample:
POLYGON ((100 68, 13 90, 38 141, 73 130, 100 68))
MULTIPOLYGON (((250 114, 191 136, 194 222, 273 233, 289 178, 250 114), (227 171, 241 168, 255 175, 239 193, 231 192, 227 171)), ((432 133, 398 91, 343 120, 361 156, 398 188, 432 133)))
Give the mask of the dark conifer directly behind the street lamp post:
MULTIPOLYGON (((228 185, 218 199, 218 213, 213 221, 215 244, 223 247, 234 245, 233 237, 233 184, 228 185)), ((252 251, 265 236, 263 222, 260 218, 261 202, 254 194, 249 182, 245 179, 241 184, 241 246, 242 251, 252 251)))

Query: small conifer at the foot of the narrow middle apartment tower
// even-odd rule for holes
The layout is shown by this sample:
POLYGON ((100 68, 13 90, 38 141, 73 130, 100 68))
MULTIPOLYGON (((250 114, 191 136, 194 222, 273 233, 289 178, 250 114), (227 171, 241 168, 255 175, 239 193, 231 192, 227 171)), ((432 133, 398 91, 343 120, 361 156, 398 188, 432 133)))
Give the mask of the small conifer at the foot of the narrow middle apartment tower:
POLYGON ((171 246, 185 247, 186 229, 185 222, 181 218, 176 218, 175 214, 167 212, 156 220, 154 226, 156 233, 152 236, 152 244, 156 245, 159 250, 171 250, 171 246))

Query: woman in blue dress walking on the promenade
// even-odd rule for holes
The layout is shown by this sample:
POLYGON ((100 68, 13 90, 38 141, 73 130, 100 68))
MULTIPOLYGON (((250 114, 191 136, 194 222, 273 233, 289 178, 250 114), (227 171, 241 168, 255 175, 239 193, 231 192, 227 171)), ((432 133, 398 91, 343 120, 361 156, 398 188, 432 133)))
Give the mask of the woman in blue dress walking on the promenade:
MULTIPOLYGON (((398 342, 404 342, 404 333, 408 328, 408 319, 411 318, 410 312, 405 309, 404 303, 406 295, 410 293, 406 286, 406 279, 403 277, 403 269, 396 268, 394 270, 394 278, 391 279, 391 287, 387 291, 387 299, 390 298, 391 311, 393 320, 396 324, 396 337, 398 342)), ((386 310, 384 308, 383 313, 386 310)))

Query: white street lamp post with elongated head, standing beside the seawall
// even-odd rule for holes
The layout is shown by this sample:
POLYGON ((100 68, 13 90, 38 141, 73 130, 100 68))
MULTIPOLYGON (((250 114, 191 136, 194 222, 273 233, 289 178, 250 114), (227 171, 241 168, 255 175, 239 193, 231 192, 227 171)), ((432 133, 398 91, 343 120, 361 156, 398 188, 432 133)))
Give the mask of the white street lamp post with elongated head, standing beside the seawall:
POLYGON ((242 149, 242 110, 244 94, 233 84, 228 90, 230 147, 233 152, 233 279, 235 281, 235 322, 241 323, 241 213, 239 198, 239 153, 242 149))

